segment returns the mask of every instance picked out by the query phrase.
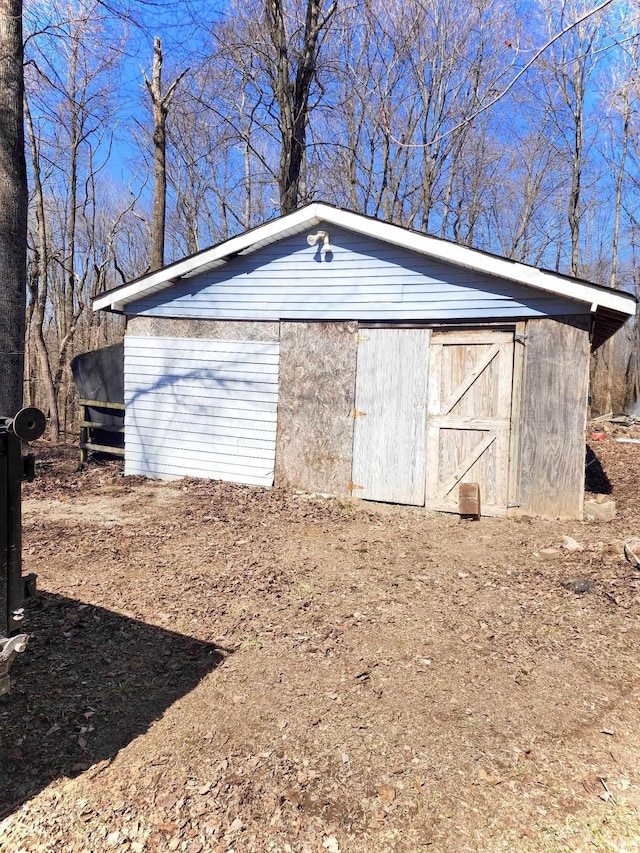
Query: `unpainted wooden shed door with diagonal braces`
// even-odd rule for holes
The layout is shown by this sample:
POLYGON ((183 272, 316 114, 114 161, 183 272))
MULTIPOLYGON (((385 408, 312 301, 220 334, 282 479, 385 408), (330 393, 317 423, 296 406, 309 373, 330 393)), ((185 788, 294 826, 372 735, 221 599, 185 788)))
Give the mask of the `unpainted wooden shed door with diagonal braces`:
POLYGON ((429 354, 426 506, 457 512, 458 485, 479 483, 483 515, 506 515, 512 332, 434 332, 429 354))

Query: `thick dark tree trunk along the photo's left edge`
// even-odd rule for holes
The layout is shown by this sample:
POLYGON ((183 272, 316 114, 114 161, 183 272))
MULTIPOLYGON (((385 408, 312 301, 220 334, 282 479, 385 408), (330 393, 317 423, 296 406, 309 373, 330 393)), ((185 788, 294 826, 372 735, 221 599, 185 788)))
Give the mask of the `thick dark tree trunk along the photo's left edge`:
POLYGON ((22 2, 0 0, 0 416, 22 407, 27 275, 22 2))

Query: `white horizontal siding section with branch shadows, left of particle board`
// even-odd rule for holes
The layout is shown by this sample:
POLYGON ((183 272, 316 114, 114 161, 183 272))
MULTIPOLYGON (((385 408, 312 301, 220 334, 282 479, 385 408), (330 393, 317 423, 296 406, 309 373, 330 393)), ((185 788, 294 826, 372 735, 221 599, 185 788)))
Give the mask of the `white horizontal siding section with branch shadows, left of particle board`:
POLYGON ((271 486, 279 344, 125 336, 125 473, 271 486))

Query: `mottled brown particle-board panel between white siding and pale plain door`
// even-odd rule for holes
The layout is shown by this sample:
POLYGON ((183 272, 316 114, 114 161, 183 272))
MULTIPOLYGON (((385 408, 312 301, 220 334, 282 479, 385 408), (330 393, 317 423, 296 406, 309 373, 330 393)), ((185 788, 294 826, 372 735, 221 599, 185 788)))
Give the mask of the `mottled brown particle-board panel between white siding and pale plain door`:
POLYGON ((358 324, 280 324, 276 485, 349 494, 358 324))

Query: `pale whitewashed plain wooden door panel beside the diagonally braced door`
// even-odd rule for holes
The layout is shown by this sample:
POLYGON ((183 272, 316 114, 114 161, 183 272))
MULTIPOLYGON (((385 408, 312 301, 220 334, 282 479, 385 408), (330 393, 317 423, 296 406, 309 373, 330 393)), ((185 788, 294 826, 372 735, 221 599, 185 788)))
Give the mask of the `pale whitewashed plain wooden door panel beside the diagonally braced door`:
POLYGON ((422 506, 428 329, 362 329, 356 365, 356 497, 422 506))

